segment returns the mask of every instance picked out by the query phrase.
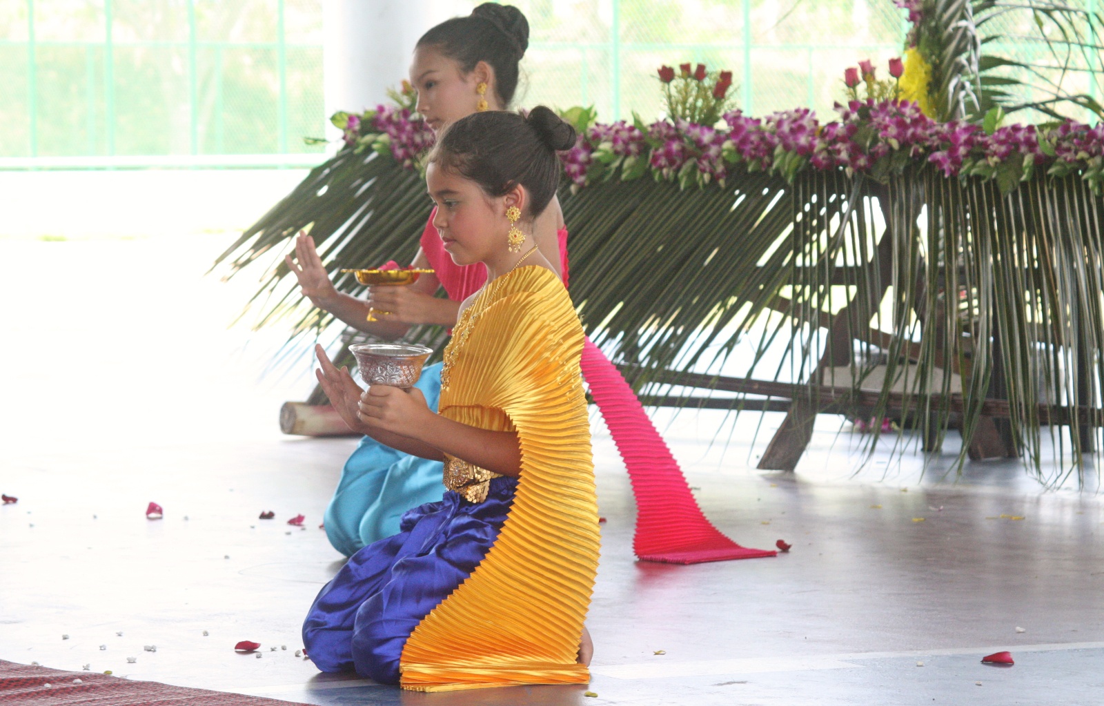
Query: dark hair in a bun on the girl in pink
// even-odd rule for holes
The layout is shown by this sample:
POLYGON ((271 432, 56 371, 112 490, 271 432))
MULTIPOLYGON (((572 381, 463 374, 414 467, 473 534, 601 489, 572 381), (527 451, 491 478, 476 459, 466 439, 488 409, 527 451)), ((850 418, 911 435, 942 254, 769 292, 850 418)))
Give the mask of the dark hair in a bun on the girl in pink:
POLYGON ((510 4, 485 2, 466 18, 445 20, 417 41, 457 61, 464 73, 481 61, 495 70, 495 89, 503 106, 518 89, 518 62, 529 48, 529 22, 510 4))

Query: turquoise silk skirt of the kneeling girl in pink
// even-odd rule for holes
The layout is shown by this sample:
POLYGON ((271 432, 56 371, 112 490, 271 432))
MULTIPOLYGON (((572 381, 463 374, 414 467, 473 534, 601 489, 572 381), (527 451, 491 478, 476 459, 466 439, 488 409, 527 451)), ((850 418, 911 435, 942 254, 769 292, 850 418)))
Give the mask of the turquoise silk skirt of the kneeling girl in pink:
MULTIPOLYGON (((440 363, 422 370, 415 383, 429 409, 440 398, 440 363)), ((442 463, 411 456, 364 436, 349 456, 338 489, 326 508, 326 535, 351 557, 361 548, 399 533, 406 510, 445 495, 442 463)))

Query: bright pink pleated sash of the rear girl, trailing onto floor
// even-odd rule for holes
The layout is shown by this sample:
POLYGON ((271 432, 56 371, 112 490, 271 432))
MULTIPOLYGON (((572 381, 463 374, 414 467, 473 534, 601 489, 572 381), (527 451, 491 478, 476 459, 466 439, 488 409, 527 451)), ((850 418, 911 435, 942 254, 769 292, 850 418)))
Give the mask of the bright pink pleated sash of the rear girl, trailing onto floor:
MULTIPOLYGON (((556 233, 563 284, 567 285, 567 230, 556 233)), ((421 240, 422 251, 436 270, 448 297, 461 302, 487 281, 479 263, 459 266, 444 249, 433 215, 421 240)), ((581 362, 591 397, 625 461, 636 499, 633 552, 646 561, 700 563, 726 559, 773 557, 774 550, 742 547, 705 517, 690 492, 682 468, 633 388, 611 360, 587 338, 581 362)))

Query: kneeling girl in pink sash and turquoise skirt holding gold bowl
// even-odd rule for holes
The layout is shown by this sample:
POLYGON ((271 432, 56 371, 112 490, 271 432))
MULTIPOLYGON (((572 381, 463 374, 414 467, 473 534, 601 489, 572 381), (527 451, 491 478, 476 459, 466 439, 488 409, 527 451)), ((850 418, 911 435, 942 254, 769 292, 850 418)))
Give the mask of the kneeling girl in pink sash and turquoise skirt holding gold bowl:
MULTIPOLYGON (((484 3, 466 18, 454 18, 418 40, 411 66, 417 89, 417 112, 434 131, 480 109, 506 109, 518 84, 518 62, 529 43, 524 15, 510 6, 484 3)), ((560 265, 567 283, 567 230, 556 200, 534 223, 541 254, 560 265)), ((417 324, 452 326, 459 303, 487 278, 481 264, 458 266, 445 252, 433 226, 433 214, 412 263, 432 268, 406 287, 372 288, 365 302, 337 292, 309 235, 296 239, 297 262, 287 257, 302 293, 350 326, 386 338, 397 338, 417 324), (444 286, 447 299, 434 297, 444 286), (379 322, 367 322, 373 312, 379 322)), ((678 462, 659 436, 633 390, 605 355, 587 339, 583 376, 609 429, 636 496, 634 552, 640 559, 697 563, 723 559, 773 556, 747 549, 722 535, 705 519, 678 462)), ((435 409, 439 366, 427 367, 418 387, 435 409)), ((438 499, 440 463, 406 456, 364 438, 347 462, 326 514, 331 544, 346 555, 395 534, 407 509, 438 499)))

